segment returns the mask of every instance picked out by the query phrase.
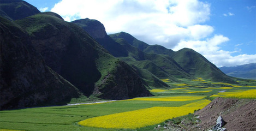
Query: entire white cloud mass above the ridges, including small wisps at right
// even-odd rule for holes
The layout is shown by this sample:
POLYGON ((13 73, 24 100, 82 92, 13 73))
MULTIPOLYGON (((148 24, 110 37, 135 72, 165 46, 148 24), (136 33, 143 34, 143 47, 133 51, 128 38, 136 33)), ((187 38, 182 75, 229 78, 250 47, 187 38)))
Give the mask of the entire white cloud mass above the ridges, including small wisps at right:
POLYGON ((108 34, 123 31, 173 50, 189 47, 217 66, 253 62, 255 55, 232 56, 237 51, 221 49, 229 38, 214 34, 214 27, 204 25, 210 20, 210 8, 209 3, 198 0, 62 0, 51 11, 66 21, 96 19, 108 34))

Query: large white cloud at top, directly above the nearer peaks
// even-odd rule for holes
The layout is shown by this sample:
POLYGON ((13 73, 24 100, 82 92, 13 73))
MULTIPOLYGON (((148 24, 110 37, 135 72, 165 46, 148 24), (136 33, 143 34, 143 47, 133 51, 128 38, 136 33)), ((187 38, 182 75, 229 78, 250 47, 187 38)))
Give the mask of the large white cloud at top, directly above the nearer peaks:
POLYGON ((51 11, 66 21, 96 19, 108 33, 124 31, 148 44, 166 47, 213 32, 213 27, 199 25, 210 19, 210 5, 197 0, 62 0, 51 11))

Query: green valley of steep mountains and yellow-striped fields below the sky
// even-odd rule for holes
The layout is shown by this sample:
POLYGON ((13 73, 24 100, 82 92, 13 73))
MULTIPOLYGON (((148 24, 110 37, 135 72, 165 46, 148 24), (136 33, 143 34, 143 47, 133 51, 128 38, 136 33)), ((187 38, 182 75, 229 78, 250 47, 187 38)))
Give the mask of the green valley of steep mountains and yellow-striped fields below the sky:
POLYGON ((0 2, 0 131, 188 124, 183 130, 197 130, 205 123, 197 113, 209 111, 212 102, 256 99, 256 80, 228 76, 193 49, 173 51, 127 32, 107 34, 98 20, 67 22, 21 0, 0 2))

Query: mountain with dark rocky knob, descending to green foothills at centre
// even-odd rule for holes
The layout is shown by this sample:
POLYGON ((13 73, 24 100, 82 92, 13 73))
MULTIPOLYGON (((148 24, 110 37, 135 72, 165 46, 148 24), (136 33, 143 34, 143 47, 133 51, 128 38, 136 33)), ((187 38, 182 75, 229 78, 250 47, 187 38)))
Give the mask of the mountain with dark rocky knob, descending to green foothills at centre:
POLYGON ((177 78, 193 78, 171 57, 142 51, 150 45, 135 39, 128 33, 121 32, 108 36, 103 24, 97 20, 82 19, 73 21, 73 23, 84 28, 111 54, 116 54, 114 56, 136 68, 141 78, 151 87, 168 87, 160 79, 179 81, 177 78), (100 35, 96 35, 96 32, 100 35), (105 34, 104 37, 101 34, 105 34), (123 55, 120 55, 120 52, 123 55))

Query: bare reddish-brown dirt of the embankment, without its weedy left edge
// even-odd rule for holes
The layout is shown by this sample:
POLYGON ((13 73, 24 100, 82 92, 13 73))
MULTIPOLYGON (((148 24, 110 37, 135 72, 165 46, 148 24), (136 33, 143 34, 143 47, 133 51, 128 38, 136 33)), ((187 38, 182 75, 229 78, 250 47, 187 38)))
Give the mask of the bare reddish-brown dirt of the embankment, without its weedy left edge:
POLYGON ((223 99, 216 98, 204 109, 195 112, 201 122, 200 130, 211 129, 219 116, 227 122, 227 130, 256 130, 256 100, 255 99, 223 99))

